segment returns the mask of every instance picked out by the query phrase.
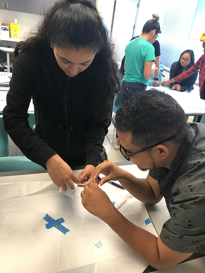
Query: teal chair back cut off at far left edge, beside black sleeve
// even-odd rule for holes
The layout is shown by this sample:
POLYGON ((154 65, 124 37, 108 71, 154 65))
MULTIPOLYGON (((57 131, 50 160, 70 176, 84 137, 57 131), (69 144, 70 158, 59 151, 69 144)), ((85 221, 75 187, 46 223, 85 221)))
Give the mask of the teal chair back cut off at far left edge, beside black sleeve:
POLYGON ((8 142, 8 134, 4 129, 3 116, 0 116, 0 157, 8 157, 10 155, 10 148, 8 142))

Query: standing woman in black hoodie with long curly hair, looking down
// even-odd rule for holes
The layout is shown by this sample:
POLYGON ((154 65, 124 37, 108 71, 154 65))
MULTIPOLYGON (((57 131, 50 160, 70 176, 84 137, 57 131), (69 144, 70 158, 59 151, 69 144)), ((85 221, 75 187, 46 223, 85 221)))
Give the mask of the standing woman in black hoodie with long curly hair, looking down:
POLYGON ((4 126, 63 190, 93 180, 120 89, 108 31, 86 0, 62 0, 16 45, 4 126), (36 128, 28 123, 33 98, 36 128), (75 176, 71 166, 84 165, 75 176), (72 179, 72 180, 71 180, 72 179))

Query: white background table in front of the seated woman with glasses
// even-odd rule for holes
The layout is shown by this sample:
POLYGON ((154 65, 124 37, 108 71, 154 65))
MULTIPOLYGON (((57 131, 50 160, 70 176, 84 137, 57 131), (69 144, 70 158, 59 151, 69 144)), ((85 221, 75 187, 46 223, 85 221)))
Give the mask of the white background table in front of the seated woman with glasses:
POLYGON ((148 86, 147 90, 151 88, 162 90, 165 93, 171 95, 184 109, 187 120, 189 116, 197 117, 205 113, 205 100, 200 99, 200 97, 197 97, 196 95, 192 95, 192 93, 179 92, 168 87, 148 86))

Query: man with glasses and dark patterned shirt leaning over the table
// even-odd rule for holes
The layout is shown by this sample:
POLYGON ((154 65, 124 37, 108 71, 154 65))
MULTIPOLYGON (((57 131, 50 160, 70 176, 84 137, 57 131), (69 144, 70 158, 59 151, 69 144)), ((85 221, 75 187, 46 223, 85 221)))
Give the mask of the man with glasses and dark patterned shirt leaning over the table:
POLYGON ((158 270, 173 267, 192 253, 205 253, 205 124, 187 123, 175 99, 156 89, 124 102, 113 123, 123 157, 149 174, 136 178, 104 161, 94 170, 94 183, 81 193, 83 206, 158 270), (100 173, 105 177, 100 179, 100 173), (158 238, 129 222, 95 184, 110 180, 118 180, 148 204, 165 198, 170 219, 158 238))

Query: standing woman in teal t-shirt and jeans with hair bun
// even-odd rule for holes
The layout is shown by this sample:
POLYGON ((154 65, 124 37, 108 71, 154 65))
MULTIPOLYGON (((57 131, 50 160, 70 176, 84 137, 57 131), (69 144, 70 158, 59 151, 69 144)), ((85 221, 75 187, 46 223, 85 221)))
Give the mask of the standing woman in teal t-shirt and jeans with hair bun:
MULTIPOLYGON (((152 42, 161 33, 158 20, 158 14, 153 14, 153 19, 148 20, 143 26, 141 36, 130 41, 125 49, 125 72, 121 86, 121 104, 132 96, 144 92, 147 88, 148 79, 159 71, 159 68, 153 64, 155 54, 152 45, 152 42)), ((117 144, 114 149, 119 150, 117 133, 116 140, 117 144)))

